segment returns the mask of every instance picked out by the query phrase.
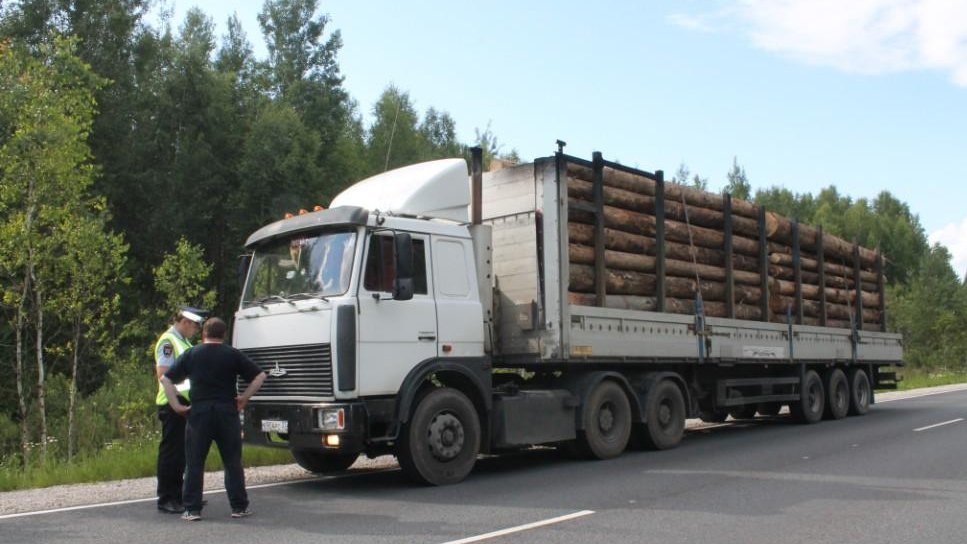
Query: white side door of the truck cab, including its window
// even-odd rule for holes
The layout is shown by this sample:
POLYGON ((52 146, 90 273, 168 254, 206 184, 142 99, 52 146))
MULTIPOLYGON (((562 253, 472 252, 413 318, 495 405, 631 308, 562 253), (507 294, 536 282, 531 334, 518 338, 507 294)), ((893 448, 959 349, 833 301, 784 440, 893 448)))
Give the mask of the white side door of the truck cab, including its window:
POLYGON ((359 395, 399 391, 406 374, 437 354, 437 315, 426 236, 413 238, 413 298, 393 300, 393 236, 369 237, 359 288, 359 395))

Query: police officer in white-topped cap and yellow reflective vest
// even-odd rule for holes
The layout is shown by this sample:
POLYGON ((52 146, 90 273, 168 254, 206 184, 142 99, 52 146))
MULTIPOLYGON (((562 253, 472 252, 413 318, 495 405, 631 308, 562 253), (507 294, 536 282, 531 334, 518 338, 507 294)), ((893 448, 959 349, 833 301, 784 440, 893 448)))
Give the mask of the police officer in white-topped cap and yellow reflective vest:
MULTIPOLYGON (((190 339, 201 330, 206 312, 189 306, 182 307, 173 324, 154 345, 155 373, 158 377, 158 419, 161 420, 161 443, 158 444, 158 510, 169 514, 184 511, 181 488, 185 474, 185 418, 168 405, 161 377, 175 359, 191 347, 190 339)), ((179 387, 178 401, 188 404, 190 383, 179 387)))

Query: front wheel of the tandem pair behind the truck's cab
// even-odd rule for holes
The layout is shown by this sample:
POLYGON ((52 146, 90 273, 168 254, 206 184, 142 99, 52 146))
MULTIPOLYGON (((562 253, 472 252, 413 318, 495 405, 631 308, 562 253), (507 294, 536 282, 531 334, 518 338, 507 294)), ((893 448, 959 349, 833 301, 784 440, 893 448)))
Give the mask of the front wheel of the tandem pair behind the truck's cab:
POLYGON ((631 437, 631 403, 613 381, 598 383, 581 410, 584 430, 578 433, 571 454, 591 459, 621 455, 631 437))

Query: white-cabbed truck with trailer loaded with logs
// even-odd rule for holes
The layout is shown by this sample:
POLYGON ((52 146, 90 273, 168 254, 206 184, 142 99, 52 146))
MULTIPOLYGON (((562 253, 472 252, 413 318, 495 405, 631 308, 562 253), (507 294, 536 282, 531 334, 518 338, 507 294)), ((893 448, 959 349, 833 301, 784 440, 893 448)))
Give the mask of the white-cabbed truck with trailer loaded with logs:
POLYGON ((750 202, 563 147, 360 181, 253 233, 233 343, 268 374, 246 441, 312 472, 395 455, 673 448, 686 419, 862 415, 895 386, 884 259, 750 202))

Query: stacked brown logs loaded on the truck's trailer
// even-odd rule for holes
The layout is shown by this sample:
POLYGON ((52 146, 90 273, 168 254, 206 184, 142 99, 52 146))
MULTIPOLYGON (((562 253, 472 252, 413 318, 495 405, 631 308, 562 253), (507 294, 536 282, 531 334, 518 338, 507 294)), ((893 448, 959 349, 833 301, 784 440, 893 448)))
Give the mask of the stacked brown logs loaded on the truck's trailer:
POLYGON ((568 162, 566 169, 571 303, 691 314, 701 292, 711 317, 785 323, 792 316, 796 323, 843 328, 855 320, 865 330, 882 330, 877 252, 751 202, 731 199, 727 212, 721 195, 659 185, 644 172, 610 166, 601 168, 598 205, 592 167, 568 162), (656 217, 659 208, 663 229, 656 217), (599 215, 604 266, 596 268, 599 215), (603 296, 596 269, 604 271, 603 296))

